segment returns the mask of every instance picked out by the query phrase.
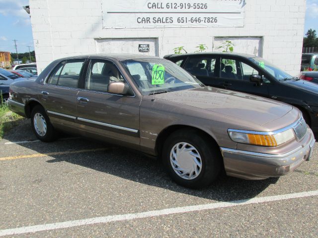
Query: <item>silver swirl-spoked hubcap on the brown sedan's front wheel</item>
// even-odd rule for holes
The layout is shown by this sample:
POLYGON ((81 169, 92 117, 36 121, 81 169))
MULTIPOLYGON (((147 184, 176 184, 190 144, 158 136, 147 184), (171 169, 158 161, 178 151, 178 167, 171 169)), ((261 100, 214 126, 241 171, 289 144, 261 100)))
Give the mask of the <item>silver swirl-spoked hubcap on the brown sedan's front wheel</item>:
POLYGON ((186 142, 177 143, 172 147, 170 163, 174 172, 182 179, 195 179, 201 173, 201 156, 193 145, 186 142))

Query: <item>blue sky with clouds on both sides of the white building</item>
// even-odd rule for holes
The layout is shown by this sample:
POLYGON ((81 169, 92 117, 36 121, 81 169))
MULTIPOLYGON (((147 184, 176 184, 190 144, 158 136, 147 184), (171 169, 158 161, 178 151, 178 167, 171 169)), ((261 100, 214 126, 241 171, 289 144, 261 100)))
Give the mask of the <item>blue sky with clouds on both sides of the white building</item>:
MULTIPOLYGON (((13 40, 17 40, 18 53, 34 50, 30 16, 22 8, 28 0, 0 0, 0 51, 15 52, 13 40)), ((318 34, 318 0, 307 0, 304 33, 312 28, 318 34)))

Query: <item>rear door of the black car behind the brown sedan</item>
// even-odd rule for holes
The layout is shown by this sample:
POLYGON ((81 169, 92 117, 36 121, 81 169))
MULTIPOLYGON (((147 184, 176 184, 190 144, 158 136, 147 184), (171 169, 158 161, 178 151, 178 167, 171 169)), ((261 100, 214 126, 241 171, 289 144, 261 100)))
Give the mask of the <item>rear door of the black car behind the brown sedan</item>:
POLYGON ((181 66, 203 84, 220 87, 222 80, 219 77, 219 61, 218 56, 190 56, 181 66))

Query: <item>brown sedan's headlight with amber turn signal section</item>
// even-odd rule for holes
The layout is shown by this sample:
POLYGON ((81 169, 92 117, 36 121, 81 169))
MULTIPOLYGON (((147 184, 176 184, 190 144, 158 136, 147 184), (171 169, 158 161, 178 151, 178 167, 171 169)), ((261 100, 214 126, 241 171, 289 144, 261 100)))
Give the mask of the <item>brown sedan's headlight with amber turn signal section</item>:
POLYGON ((260 146, 278 146, 295 138, 293 128, 280 133, 228 130, 230 138, 237 142, 260 146))

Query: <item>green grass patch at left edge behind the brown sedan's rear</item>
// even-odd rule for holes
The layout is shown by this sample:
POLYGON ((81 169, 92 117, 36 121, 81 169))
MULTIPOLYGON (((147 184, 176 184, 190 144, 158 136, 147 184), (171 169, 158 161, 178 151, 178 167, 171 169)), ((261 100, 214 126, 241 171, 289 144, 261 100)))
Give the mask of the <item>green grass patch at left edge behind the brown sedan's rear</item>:
POLYGON ((13 126, 19 124, 23 117, 11 112, 6 103, 0 104, 0 139, 8 132, 13 126))

